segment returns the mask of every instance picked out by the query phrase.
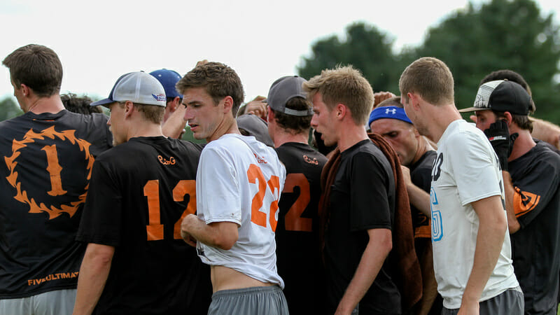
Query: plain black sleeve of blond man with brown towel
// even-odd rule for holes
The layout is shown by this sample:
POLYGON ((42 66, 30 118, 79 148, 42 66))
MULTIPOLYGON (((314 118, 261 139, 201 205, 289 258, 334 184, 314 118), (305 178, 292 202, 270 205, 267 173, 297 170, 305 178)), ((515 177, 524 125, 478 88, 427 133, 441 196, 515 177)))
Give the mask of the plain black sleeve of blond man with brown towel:
POLYGON ((377 228, 391 230, 387 176, 384 167, 374 155, 354 155, 350 177, 351 231, 377 228))

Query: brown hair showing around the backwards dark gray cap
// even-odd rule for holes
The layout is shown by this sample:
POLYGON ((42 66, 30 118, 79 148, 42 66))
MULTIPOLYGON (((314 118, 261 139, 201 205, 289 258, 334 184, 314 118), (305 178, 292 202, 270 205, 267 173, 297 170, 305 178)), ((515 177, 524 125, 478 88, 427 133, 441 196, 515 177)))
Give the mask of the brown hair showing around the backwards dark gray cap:
MULTIPOLYGON (((286 102, 286 109, 293 109, 295 111, 303 111, 310 109, 311 102, 302 97, 293 97, 286 102)), ((311 118, 313 116, 292 116, 281 111, 274 111, 272 107, 269 109, 274 113, 274 121, 286 132, 292 134, 307 134, 309 127, 311 127, 311 118)))

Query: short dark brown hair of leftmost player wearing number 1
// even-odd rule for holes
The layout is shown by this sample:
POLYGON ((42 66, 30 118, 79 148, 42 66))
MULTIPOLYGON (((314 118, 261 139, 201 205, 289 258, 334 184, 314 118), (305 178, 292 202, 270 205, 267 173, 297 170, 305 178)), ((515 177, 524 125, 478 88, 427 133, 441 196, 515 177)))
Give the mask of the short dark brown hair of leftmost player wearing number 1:
POLYGON ((62 63, 54 50, 42 45, 25 45, 3 59, 10 77, 19 89, 25 84, 38 97, 58 94, 62 85, 62 63))

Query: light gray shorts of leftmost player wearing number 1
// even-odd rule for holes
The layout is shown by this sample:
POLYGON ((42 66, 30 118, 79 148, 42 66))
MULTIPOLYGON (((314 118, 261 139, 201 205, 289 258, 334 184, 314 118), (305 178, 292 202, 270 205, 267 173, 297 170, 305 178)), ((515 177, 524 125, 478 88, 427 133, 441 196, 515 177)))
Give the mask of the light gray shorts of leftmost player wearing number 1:
POLYGON ((0 300, 0 314, 70 315, 76 301, 76 289, 54 290, 29 297, 0 300))

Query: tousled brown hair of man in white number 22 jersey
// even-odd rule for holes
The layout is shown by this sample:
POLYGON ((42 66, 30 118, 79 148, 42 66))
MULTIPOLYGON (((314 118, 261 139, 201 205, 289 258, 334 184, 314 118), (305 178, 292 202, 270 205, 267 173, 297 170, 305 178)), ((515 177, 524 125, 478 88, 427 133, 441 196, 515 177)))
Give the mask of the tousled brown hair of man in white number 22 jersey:
POLYGON ((208 62, 195 66, 175 85, 177 91, 185 94, 191 87, 206 87, 206 91, 217 105, 224 97, 232 97, 233 117, 237 116, 237 109, 243 102, 244 92, 241 79, 229 66, 220 62, 208 62))

